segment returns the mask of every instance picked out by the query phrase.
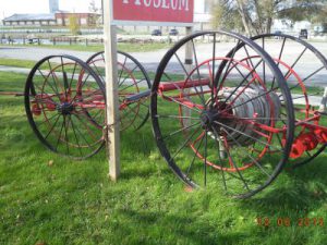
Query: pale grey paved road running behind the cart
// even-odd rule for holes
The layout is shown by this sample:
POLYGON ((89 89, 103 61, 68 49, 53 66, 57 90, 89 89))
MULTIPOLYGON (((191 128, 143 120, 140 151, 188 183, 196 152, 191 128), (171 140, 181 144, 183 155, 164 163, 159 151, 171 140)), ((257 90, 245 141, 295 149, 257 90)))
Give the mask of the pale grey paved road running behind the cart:
MULTIPOLYGON (((225 57, 229 50, 234 47, 235 42, 219 42, 217 44, 216 53, 218 56, 225 57)), ((327 57, 327 42, 313 42, 325 57, 327 57)), ((266 50, 272 54, 274 57, 279 57, 281 41, 279 40, 269 40, 266 44, 266 50)), ((86 48, 87 49, 87 48, 86 48)), ((197 59, 199 61, 209 59, 213 50, 211 44, 201 44, 196 45, 197 49, 197 59)), ((292 64, 294 60, 296 60, 296 56, 301 53, 303 47, 295 47, 294 45, 286 45, 282 53, 282 61, 288 64, 292 64), (296 54, 298 53, 298 54, 296 54)), ((157 50, 153 52, 133 52, 134 56, 146 69, 146 71, 155 72, 157 70, 158 63, 161 58, 165 56, 167 50, 157 50)), ((82 60, 87 60, 88 57, 93 54, 93 52, 88 51, 69 51, 69 50, 60 50, 60 49, 50 49, 50 48, 37 48, 37 47, 0 47, 0 58, 13 58, 13 59, 25 59, 25 60, 40 60, 41 58, 50 54, 70 54, 75 56, 82 60)), ((183 60, 183 53, 180 52, 180 58, 183 60)), ((240 52, 242 56, 242 52, 240 52)), ((243 51, 244 56, 244 51, 243 51)), ((322 65, 320 61, 318 61, 312 52, 305 51, 303 57, 301 58, 301 62, 296 64, 296 73, 299 73, 300 77, 303 79, 311 73, 315 72, 322 65)), ((258 69, 259 70, 259 69, 258 69)), ((283 70, 281 68, 281 70, 283 70)), ((175 59, 170 63, 168 71, 171 73, 183 73, 181 65, 178 63, 175 59)), ((286 70, 287 71, 287 70, 286 70)), ((284 71, 282 71, 284 73, 284 71)), ((207 73, 207 72, 205 72, 207 73)), ((269 77, 269 74, 267 75, 269 77)), ((316 75, 311 77, 307 84, 314 86, 327 86, 327 69, 322 70, 316 75)))

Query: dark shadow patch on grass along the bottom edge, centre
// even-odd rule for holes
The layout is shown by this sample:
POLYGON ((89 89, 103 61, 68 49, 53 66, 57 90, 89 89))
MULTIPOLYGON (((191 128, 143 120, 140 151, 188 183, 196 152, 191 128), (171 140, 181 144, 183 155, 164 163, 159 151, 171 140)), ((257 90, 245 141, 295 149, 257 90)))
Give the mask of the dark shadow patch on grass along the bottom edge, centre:
POLYGON ((217 231, 213 222, 205 222, 194 213, 170 215, 164 211, 117 210, 116 226, 121 244, 237 244, 249 234, 217 231), (140 234, 140 232, 142 233, 140 234))

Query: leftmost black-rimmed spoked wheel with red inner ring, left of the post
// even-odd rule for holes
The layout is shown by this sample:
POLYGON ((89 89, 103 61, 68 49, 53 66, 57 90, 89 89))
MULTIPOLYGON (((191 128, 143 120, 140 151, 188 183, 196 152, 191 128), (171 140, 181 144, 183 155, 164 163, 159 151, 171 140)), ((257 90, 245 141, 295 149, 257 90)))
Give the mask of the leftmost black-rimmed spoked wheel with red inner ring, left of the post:
POLYGON ((46 57, 27 77, 28 122, 40 142, 60 155, 85 159, 100 150, 105 106, 104 84, 74 57, 46 57))

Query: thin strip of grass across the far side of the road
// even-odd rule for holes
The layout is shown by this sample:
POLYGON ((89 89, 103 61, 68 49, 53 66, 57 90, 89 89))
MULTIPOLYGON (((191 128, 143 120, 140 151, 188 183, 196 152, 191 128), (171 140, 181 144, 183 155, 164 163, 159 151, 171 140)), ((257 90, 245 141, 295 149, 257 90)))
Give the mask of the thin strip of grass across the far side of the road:
MULTIPOLYGON (((0 47, 7 47, 7 45, 0 45, 0 47)), ((89 52, 98 52, 102 51, 104 45, 14 45, 10 47, 34 47, 34 48, 51 48, 51 49, 64 49, 64 50, 75 50, 75 51, 89 51, 89 52)), ((118 44, 118 50, 125 52, 148 52, 156 51, 159 49, 168 49, 171 45, 167 42, 153 42, 153 44, 118 44)))

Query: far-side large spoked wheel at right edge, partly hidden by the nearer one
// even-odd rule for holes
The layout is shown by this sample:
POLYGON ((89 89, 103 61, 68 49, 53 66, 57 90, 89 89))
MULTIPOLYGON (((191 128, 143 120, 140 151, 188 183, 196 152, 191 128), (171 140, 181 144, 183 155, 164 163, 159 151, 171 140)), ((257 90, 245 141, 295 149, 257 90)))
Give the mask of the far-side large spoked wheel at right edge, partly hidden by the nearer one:
MULTIPOLYGON (((327 146, 326 111, 319 110, 327 60, 315 47, 293 36, 265 34, 252 39, 272 57, 291 91, 296 127, 290 164, 299 167, 311 162, 327 146)), ((249 57, 246 62, 255 60, 258 58, 249 57)), ((264 66, 263 63, 262 69, 264 66)))

